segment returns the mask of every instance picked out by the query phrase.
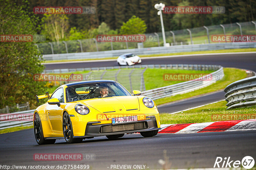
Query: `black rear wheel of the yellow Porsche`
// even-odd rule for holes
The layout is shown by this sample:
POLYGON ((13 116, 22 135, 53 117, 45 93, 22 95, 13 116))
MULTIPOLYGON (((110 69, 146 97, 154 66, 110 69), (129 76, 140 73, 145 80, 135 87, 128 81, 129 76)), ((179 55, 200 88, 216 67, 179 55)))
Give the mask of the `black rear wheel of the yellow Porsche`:
POLYGON ((34 117, 34 135, 38 145, 54 144, 56 141, 56 139, 45 140, 42 123, 38 113, 35 113, 35 117, 34 117))

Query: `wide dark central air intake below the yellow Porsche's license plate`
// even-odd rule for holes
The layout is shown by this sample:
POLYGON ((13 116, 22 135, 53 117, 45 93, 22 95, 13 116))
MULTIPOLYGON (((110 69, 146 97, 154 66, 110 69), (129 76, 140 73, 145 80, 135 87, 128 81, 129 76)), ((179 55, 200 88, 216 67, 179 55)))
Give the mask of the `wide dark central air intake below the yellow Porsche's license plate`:
POLYGON ((103 125, 100 127, 100 133, 111 133, 111 132, 121 132, 121 131, 135 131, 147 129, 147 122, 135 122, 127 124, 115 124, 115 125, 103 125))

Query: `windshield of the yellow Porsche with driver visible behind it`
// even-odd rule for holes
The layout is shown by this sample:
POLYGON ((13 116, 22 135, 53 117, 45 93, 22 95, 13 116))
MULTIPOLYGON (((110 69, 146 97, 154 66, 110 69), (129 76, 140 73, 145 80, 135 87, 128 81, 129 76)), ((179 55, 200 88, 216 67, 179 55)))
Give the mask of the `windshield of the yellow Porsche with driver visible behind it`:
POLYGON ((85 83, 66 88, 67 102, 92 98, 131 96, 131 94, 116 82, 85 83))

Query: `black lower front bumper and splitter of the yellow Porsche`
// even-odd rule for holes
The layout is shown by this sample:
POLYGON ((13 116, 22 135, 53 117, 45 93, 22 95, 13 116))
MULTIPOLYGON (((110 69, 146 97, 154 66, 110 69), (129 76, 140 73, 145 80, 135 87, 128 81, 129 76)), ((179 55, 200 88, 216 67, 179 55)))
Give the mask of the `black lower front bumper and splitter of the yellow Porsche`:
POLYGON ((161 129, 157 127, 156 117, 151 117, 146 120, 140 120, 137 123, 140 125, 138 124, 135 125, 135 123, 116 124, 116 125, 87 123, 84 136, 74 136, 74 138, 92 138, 96 136, 136 133, 136 132, 153 131, 153 130, 161 129), (124 129, 121 129, 122 125, 124 126, 124 129), (133 125, 134 125, 134 128, 132 127, 133 125), (106 128, 107 126, 108 128, 106 128), (117 126, 118 128, 116 128, 117 126), (104 131, 104 129, 111 129, 111 128, 113 132, 104 131))

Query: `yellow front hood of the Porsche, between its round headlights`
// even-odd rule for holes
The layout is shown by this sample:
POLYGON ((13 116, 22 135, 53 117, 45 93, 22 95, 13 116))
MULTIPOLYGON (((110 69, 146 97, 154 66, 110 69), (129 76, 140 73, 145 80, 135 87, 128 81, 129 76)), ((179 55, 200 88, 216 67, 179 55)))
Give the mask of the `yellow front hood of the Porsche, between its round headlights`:
POLYGON ((140 110, 139 99, 137 96, 103 97, 85 100, 83 103, 99 110, 101 113, 140 110))

